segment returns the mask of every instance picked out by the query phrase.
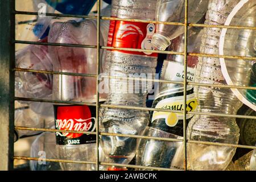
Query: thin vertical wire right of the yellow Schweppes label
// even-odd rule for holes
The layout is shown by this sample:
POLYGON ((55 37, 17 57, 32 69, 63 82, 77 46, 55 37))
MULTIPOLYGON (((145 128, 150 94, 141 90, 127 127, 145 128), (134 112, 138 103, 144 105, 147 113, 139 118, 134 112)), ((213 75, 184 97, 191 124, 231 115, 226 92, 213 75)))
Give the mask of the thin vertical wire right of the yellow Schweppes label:
POLYGON ((183 146, 184 146, 184 170, 187 171, 187 43, 188 43, 188 0, 185 0, 185 26, 184 26, 184 110, 183 110, 183 146))

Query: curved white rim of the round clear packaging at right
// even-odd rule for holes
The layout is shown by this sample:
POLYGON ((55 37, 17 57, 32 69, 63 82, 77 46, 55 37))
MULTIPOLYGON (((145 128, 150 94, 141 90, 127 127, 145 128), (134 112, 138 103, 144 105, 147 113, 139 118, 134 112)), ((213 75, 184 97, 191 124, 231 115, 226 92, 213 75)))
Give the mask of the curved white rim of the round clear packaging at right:
MULTIPOLYGON (((229 26, 230 22, 232 21, 232 18, 234 17, 234 15, 237 14, 237 12, 243 7, 243 5, 245 5, 245 3, 247 3, 249 0, 241 0, 235 7, 234 9, 231 11, 231 13, 229 14, 228 18, 226 19, 225 22, 225 26, 229 26)), ((220 35, 220 44, 219 44, 219 53, 220 55, 224 55, 224 41, 225 41, 225 35, 226 35, 226 31, 228 29, 227 28, 222 28, 221 31, 221 35, 220 35)), ((225 59, 223 57, 220 57, 220 64, 221 64, 221 71, 222 74, 227 82, 228 85, 234 85, 233 81, 231 80, 229 73, 228 73, 228 69, 226 68, 226 64, 225 64, 225 59)), ((238 89, 231 89, 232 92, 237 96, 237 98, 243 102, 243 104, 251 107, 251 109, 256 111, 256 106, 254 104, 252 104, 250 101, 248 101, 245 97, 243 97, 243 95, 238 91, 238 89)))

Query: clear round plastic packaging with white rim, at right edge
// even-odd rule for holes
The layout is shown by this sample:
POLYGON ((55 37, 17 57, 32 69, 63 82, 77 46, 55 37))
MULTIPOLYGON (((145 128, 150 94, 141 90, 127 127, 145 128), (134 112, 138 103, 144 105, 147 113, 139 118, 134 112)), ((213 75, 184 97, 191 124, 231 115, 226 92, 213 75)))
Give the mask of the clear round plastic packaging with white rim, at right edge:
MULTIPOLYGON (((256 26, 256 2, 243 0, 232 10, 225 25, 246 27, 256 26)), ((220 55, 248 56, 256 55, 256 32, 248 29, 223 29, 220 37, 220 55)), ((220 58, 221 71, 227 84, 239 86, 256 86, 255 60, 220 58)), ((233 94, 256 111, 255 90, 232 89, 233 94)))

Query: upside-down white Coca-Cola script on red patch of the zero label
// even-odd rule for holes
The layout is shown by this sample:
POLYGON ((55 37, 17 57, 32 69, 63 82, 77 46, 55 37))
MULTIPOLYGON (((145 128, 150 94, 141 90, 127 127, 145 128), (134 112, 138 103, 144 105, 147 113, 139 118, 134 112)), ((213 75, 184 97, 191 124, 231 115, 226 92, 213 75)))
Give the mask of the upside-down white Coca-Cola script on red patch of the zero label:
MULTIPOLYGON (((94 131, 96 128, 96 118, 92 117, 90 109, 86 105, 57 106, 55 116, 55 128, 58 130, 94 131)), ((56 136, 67 138, 78 138, 82 135, 79 133, 56 132, 56 136)))

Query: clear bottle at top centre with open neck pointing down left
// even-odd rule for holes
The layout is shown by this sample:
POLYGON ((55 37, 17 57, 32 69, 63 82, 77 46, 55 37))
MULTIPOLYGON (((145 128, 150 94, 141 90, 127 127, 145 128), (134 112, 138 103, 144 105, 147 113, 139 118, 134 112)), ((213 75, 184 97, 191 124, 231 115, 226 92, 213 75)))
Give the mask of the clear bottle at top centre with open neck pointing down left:
MULTIPOLYGON (((188 1, 188 23, 197 23, 206 13, 209 0, 188 1)), ((184 23, 184 0, 158 0, 156 5, 156 20, 164 22, 184 23)), ((183 26, 157 24, 156 34, 153 35, 152 44, 155 49, 165 50, 170 40, 184 33, 183 26)))

